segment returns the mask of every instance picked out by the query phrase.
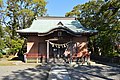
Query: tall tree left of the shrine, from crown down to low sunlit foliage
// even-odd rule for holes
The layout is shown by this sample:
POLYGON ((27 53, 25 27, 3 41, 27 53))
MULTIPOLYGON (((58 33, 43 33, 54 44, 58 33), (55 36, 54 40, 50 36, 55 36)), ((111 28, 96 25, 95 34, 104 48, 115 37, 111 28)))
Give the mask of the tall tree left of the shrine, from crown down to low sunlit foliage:
POLYGON ((44 16, 46 13, 45 6, 45 0, 7 0, 3 9, 4 18, 2 22, 6 26, 4 41, 9 48, 9 53, 15 54, 24 47, 24 38, 21 38, 20 41, 20 36, 16 30, 28 28, 37 16, 44 16))

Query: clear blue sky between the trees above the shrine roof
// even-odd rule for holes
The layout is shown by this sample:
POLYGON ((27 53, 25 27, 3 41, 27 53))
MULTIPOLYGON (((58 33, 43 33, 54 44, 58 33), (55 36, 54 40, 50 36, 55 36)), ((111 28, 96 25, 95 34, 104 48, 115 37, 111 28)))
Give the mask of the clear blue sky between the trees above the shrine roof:
POLYGON ((49 16, 65 16, 74 6, 84 4, 89 0, 46 0, 47 14, 49 16))

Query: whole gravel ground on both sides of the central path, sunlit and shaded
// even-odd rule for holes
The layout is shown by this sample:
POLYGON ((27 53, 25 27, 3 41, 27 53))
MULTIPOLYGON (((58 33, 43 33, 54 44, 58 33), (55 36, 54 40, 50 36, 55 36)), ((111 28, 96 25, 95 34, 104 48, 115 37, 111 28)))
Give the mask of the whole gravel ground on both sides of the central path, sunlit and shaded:
MULTIPOLYGON (((50 69, 63 64, 16 63, 0 66, 0 80, 47 80, 50 69)), ((120 67, 92 63, 87 65, 66 65, 71 80, 120 80, 120 67)))

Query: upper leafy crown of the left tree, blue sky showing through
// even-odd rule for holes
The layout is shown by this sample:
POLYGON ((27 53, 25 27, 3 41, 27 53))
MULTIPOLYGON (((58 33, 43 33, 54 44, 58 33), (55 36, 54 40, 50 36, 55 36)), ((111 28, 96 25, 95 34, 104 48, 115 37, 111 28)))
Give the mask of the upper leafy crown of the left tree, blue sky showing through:
POLYGON ((44 0, 8 0, 4 24, 11 30, 8 33, 11 39, 17 35, 17 29, 28 28, 36 16, 43 16, 46 12, 45 5, 44 0))

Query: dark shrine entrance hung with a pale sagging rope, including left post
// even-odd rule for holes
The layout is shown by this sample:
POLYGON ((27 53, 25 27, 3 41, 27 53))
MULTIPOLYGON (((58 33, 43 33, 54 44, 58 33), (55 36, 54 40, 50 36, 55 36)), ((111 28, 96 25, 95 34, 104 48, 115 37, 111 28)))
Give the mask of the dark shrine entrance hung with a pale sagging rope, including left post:
MULTIPOLYGON (((64 52, 70 47, 71 41, 49 39, 47 41, 47 60, 53 59, 64 59, 64 52)), ((72 50, 72 49, 71 49, 72 50)))

